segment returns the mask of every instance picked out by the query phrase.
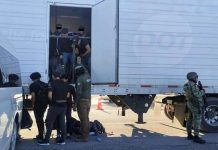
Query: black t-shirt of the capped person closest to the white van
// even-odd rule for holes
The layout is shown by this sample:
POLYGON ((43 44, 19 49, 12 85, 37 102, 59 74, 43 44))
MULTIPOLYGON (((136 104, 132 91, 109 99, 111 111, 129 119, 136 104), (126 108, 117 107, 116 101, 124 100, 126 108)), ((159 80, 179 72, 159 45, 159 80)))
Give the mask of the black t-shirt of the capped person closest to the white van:
POLYGON ((46 86, 47 84, 45 82, 42 82, 40 80, 33 82, 30 84, 30 94, 35 93, 36 99, 35 99, 35 106, 47 106, 48 104, 48 95, 43 95, 46 93, 40 93, 40 90, 42 89, 42 86, 46 86))

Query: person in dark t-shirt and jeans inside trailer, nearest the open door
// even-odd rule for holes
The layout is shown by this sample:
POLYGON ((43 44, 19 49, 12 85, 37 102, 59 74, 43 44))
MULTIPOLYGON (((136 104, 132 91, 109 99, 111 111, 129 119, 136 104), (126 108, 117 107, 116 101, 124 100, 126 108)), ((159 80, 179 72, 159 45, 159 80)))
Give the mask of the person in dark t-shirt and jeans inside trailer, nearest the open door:
POLYGON ((77 45, 77 54, 81 58, 83 66, 91 74, 91 46, 87 37, 85 37, 85 28, 83 26, 79 27, 80 39, 77 45))

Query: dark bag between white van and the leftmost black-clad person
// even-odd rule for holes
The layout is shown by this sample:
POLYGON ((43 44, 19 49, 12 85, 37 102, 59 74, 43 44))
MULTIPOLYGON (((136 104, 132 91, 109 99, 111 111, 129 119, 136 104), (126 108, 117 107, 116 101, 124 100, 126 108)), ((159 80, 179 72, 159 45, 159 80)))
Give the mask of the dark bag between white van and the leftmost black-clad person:
POLYGON ((22 111, 21 129, 29 129, 33 125, 33 120, 26 109, 22 111))

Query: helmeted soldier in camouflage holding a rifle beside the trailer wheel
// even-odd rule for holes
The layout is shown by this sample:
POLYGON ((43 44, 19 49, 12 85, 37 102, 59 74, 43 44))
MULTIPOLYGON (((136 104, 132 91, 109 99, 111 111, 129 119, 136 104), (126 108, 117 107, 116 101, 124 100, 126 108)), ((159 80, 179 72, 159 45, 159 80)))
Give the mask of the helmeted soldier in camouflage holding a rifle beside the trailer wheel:
POLYGON ((203 96, 205 93, 203 90, 200 90, 197 85, 197 73, 189 72, 187 74, 187 79, 188 82, 184 85, 188 107, 188 117, 186 124, 188 133, 187 139, 193 140, 196 143, 204 144, 205 140, 199 137, 199 131, 202 117, 203 96), (192 135, 192 127, 194 129, 194 136, 192 135))

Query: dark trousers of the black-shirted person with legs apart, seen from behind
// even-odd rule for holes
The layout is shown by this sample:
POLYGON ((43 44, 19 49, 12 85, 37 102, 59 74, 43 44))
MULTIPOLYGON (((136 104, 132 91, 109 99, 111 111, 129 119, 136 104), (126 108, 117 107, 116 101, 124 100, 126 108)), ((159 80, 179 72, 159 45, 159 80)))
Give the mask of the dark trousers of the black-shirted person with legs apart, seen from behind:
POLYGON ((46 128, 47 132, 45 135, 45 140, 49 141, 51 132, 53 129, 53 125, 55 120, 58 118, 58 125, 60 126, 61 137, 65 138, 65 114, 66 114, 66 107, 59 107, 59 106, 50 106, 48 109, 48 114, 46 117, 46 128))

